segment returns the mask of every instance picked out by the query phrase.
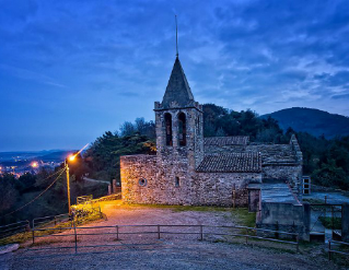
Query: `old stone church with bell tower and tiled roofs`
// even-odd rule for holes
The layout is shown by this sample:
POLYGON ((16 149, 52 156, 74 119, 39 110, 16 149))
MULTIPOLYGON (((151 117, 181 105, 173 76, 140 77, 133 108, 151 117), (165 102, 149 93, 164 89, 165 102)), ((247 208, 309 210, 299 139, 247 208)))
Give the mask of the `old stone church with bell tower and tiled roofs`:
POLYGON ((162 102, 155 102, 156 155, 120 157, 123 200, 130 203, 249 206, 260 186, 278 180, 301 196, 302 152, 289 144, 249 142, 245 136, 203 137, 202 105, 195 101, 178 56, 162 102))

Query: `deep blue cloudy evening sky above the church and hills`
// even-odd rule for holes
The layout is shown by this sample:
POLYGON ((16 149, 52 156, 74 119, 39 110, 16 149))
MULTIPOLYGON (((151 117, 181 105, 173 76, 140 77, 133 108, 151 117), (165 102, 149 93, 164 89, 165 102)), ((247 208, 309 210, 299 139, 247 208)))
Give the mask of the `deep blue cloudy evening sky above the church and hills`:
POLYGON ((153 119, 174 14, 198 102, 349 116, 346 0, 0 0, 0 151, 75 149, 153 119))

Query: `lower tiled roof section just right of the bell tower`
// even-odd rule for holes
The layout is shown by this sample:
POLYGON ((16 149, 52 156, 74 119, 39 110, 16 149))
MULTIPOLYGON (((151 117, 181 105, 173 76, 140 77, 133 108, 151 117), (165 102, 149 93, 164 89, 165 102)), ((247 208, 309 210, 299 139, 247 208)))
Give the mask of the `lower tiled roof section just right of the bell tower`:
POLYGON ((259 173, 261 159, 259 153, 208 154, 197 168, 201 173, 259 173))

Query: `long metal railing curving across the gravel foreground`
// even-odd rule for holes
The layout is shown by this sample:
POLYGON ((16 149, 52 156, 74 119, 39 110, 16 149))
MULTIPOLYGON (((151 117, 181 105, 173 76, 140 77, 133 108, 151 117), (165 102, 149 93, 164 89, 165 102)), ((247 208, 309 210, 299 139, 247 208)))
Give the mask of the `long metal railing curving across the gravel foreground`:
MULTIPOLYGON (((59 233, 58 232, 58 233, 59 233)), ((32 240, 33 244, 35 244, 36 238, 43 238, 43 237, 73 237, 74 246, 59 246, 59 247, 47 247, 47 248, 38 248, 30 250, 43 250, 43 249, 60 249, 60 248, 74 248, 75 253, 78 253, 78 248, 93 248, 93 247, 110 247, 110 246, 120 246, 120 245, 89 245, 89 246, 78 246, 78 237, 80 236, 92 236, 92 235, 115 235, 116 240, 120 240, 121 235, 156 235, 158 239, 161 239, 164 235, 195 235, 198 236, 199 240, 203 240, 207 238, 207 236, 231 236, 231 237, 243 237, 245 238, 245 243, 248 244, 249 239, 257 239, 257 240, 269 240, 269 242, 276 242, 276 243, 282 243, 282 244, 290 244, 294 245, 296 251, 299 251, 299 234, 295 233, 288 233, 288 232, 281 232, 281 231, 272 231, 272 230, 265 230, 265 228, 256 228, 256 227, 246 227, 246 226, 214 226, 214 225, 114 225, 114 226, 93 226, 93 227, 79 227, 75 226, 75 223, 73 222, 73 225, 71 227, 65 227, 65 228, 36 228, 32 232, 32 240), (171 231, 171 227, 176 228, 195 228, 194 232, 185 232, 184 230, 177 231, 171 231), (125 228, 131 228, 131 231, 125 231, 125 228), (132 228, 148 228, 148 231, 139 231, 139 230, 132 230, 132 228), (68 234, 57 234, 55 232, 63 232, 63 231, 72 231, 68 234), (94 232, 89 232, 89 230, 94 230, 94 232), (95 232, 98 230, 103 230, 103 232, 95 232), (220 232, 214 232, 212 230, 220 230, 220 232), (233 232, 222 232, 222 230, 243 230, 244 233, 233 233, 233 232), (81 233, 85 231, 85 233, 81 233), (135 232, 136 231, 136 232, 135 232), (48 232, 48 234, 45 234, 45 232, 48 232), (49 234, 49 232, 53 232, 53 234, 49 234), (264 233, 264 234, 278 234, 278 235, 286 235, 287 237, 292 238, 292 240, 289 239, 277 239, 266 236, 258 236, 251 234, 254 232, 254 234, 257 233, 264 233)), ((135 244, 135 245, 141 245, 141 244, 135 244)))

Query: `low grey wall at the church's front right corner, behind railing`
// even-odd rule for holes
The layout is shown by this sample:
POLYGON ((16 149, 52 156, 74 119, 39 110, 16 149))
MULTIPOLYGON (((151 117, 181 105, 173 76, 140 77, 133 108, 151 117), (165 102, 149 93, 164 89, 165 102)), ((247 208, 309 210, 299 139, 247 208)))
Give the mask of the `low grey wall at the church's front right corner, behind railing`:
MULTIPOLYGON (((310 204, 261 202, 256 226, 275 231, 298 233, 301 239, 310 240, 310 204)), ((280 235, 282 237, 282 235, 280 235)))

